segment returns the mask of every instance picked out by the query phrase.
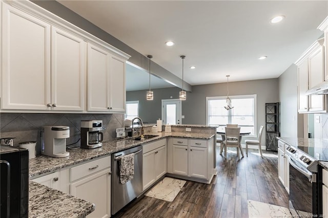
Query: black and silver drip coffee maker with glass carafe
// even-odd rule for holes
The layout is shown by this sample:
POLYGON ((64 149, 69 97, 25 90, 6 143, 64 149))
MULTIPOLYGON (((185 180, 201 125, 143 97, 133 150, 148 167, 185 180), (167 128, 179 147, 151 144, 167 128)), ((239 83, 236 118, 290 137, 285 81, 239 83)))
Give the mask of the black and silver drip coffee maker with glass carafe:
POLYGON ((103 120, 81 120, 81 148, 103 146, 103 120))

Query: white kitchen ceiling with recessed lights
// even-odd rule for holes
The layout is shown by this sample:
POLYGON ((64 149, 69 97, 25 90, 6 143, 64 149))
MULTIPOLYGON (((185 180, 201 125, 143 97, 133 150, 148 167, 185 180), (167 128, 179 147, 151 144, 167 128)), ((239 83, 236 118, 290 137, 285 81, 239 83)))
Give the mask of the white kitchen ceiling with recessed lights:
POLYGON ((227 74, 229 81, 279 77, 322 35, 316 28, 328 15, 328 1, 59 2, 180 78, 186 55, 191 85, 226 82, 227 74), (271 24, 276 15, 285 19, 271 24))

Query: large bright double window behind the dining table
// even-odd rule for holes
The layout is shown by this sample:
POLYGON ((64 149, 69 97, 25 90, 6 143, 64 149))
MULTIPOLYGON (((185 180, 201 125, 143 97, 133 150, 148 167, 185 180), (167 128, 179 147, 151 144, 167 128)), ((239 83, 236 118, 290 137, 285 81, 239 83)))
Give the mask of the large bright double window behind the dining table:
POLYGON ((224 128, 226 124, 238 124, 241 132, 251 132, 256 136, 256 95, 229 96, 232 108, 227 111, 227 96, 207 97, 207 124, 219 125, 224 128))

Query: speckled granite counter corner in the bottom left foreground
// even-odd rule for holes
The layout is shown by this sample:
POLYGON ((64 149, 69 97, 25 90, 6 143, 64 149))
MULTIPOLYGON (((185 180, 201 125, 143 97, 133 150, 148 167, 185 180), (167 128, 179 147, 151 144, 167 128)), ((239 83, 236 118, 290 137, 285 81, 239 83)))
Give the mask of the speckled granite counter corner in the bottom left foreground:
POLYGON ((30 181, 29 217, 85 217, 95 205, 30 181))

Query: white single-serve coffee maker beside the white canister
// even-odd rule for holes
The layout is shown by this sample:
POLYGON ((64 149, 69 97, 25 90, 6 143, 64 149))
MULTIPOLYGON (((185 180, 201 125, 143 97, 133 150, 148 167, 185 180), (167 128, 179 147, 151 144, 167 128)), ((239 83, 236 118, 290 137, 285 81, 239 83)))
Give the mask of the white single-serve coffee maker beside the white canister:
POLYGON ((44 126, 41 154, 55 158, 70 155, 66 151, 66 139, 70 137, 69 126, 44 126))

